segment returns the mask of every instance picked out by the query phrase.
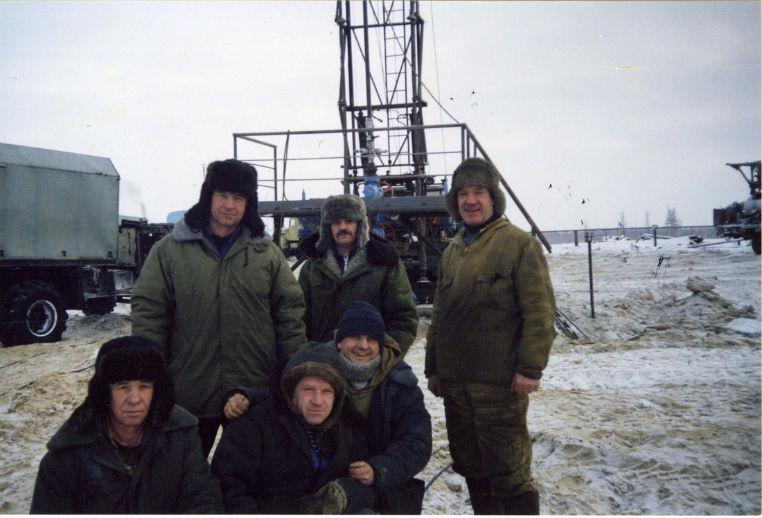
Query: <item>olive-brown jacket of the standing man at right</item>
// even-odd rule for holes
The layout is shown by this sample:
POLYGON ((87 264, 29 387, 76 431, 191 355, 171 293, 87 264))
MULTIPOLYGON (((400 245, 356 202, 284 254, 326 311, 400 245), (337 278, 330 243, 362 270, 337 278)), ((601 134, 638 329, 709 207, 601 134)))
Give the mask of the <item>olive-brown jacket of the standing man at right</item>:
POLYGON ((510 384, 542 376, 555 338, 555 296, 539 243, 507 219, 444 251, 427 334, 425 374, 510 384))

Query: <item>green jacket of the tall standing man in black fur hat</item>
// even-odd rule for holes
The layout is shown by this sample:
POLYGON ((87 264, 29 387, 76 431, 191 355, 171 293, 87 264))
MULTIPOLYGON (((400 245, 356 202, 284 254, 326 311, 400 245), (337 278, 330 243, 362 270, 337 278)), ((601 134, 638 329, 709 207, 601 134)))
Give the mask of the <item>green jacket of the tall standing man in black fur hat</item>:
POLYGON ((133 334, 165 351, 177 403, 197 417, 220 416, 231 389, 264 389, 274 361, 306 343, 283 252, 246 228, 223 258, 181 219, 151 249, 131 303, 133 334))

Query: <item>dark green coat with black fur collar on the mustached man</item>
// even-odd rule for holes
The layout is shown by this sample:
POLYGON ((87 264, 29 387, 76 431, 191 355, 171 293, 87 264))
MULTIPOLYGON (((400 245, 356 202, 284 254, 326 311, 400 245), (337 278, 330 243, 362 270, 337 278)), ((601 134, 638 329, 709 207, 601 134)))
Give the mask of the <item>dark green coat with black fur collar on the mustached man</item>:
POLYGON ((394 246, 371 234, 342 277, 332 252, 323 253, 315 248, 319 238, 319 232, 315 232, 299 242, 299 250, 309 257, 299 271, 308 340, 324 343, 333 340, 347 306, 363 300, 379 310, 387 336, 399 345, 404 356, 418 332, 418 309, 408 274, 394 246))

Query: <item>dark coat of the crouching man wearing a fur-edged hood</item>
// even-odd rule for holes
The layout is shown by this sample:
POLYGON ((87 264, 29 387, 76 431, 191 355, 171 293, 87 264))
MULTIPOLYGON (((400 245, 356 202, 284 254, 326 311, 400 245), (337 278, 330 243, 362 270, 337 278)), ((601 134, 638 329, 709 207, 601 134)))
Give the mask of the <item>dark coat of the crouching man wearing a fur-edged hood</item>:
MULTIPOLYGON (((274 367, 275 373, 283 370, 283 363, 274 367)), ((328 465, 316 471, 305 432, 309 424, 290 408, 280 389, 280 376, 272 376, 265 391, 242 392, 251 407, 225 427, 212 459, 226 513, 300 513, 304 497, 335 479, 351 501, 370 507, 372 492, 347 477, 347 466, 357 450, 352 431, 338 420, 341 405, 324 421, 323 425, 330 421, 330 427, 315 427, 322 451, 330 452, 328 465)))

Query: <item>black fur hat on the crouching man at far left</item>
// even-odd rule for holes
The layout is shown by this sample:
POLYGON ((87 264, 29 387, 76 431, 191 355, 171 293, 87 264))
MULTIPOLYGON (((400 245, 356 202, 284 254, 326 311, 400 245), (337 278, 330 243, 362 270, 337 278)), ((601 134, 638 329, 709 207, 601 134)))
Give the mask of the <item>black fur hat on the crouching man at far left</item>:
POLYGON ((137 336, 114 338, 98 350, 88 395, 72 413, 72 424, 82 429, 105 420, 110 413, 111 385, 133 380, 153 382, 146 423, 162 427, 174 407, 174 385, 155 342, 137 336))

